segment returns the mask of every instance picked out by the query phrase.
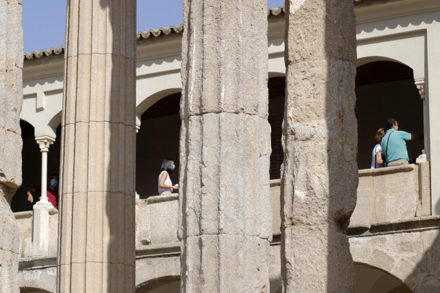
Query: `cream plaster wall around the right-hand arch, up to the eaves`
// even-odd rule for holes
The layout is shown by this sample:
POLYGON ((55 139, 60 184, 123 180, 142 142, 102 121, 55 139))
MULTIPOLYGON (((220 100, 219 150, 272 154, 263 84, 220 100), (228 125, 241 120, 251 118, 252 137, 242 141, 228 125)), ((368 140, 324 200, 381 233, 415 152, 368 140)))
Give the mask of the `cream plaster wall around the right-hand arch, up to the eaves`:
MULTIPOLYGON (((440 1, 390 1, 357 9, 358 63, 394 60, 425 79, 425 145, 431 162, 432 213, 440 214, 440 1), (430 82, 434 81, 434 82, 430 82)), ((410 115, 410 109, 408 109, 410 115)))

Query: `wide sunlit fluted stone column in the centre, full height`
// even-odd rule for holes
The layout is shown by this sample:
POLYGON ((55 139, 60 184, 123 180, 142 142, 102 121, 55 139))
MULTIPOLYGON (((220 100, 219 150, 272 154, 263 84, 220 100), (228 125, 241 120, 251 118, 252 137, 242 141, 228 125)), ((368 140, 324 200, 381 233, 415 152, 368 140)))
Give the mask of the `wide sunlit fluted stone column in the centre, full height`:
POLYGON ((183 1, 181 292, 269 292, 266 5, 183 1))

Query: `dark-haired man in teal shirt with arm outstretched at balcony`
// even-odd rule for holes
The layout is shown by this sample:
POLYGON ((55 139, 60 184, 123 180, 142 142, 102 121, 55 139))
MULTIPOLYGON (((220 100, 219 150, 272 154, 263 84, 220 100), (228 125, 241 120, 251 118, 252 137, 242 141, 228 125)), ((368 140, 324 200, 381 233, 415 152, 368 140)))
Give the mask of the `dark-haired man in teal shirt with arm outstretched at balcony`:
POLYGON ((406 150, 406 142, 415 139, 421 139, 421 135, 400 131, 396 119, 388 119, 386 121, 386 134, 381 141, 381 148, 386 155, 387 166, 408 165, 410 159, 408 158, 408 150, 406 150))

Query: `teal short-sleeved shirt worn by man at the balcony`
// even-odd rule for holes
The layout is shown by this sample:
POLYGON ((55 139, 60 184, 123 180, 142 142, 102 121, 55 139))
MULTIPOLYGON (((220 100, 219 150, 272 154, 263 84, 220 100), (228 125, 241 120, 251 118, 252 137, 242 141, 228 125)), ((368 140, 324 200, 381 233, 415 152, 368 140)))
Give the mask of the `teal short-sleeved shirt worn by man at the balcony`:
POLYGON ((385 137, 383 137, 381 141, 382 151, 386 154, 386 162, 390 163, 392 161, 396 161, 399 159, 408 158, 408 150, 406 150, 406 142, 411 138, 411 134, 408 132, 389 129, 386 131, 385 137), (388 137, 390 140, 388 141, 388 137), (388 149, 387 150, 387 141, 388 141, 388 149))

